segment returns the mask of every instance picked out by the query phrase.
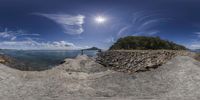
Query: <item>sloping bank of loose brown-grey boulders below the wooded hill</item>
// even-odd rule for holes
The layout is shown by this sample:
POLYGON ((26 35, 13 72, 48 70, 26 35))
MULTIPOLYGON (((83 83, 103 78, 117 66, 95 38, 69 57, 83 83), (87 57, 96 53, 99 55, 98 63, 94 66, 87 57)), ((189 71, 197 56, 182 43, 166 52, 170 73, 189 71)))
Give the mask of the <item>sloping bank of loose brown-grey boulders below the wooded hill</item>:
POLYGON ((195 54, 177 50, 111 50, 99 53, 97 62, 116 71, 132 73, 157 68, 177 55, 193 57, 195 54))

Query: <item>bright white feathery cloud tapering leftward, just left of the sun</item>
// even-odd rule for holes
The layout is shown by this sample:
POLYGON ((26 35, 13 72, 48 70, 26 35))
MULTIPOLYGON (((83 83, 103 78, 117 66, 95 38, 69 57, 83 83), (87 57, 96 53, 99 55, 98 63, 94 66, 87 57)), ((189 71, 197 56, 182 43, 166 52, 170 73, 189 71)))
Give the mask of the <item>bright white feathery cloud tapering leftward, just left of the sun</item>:
POLYGON ((83 15, 72 16, 68 14, 43 14, 43 13, 34 13, 34 15, 43 16, 56 22, 64 29, 65 33, 70 35, 81 34, 84 31, 83 24, 85 16, 83 15))

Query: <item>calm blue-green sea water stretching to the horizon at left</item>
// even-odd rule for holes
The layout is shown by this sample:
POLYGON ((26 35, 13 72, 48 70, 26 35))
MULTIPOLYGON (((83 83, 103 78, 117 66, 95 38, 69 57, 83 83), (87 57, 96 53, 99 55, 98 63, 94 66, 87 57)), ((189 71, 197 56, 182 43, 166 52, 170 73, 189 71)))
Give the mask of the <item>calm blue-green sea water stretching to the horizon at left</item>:
MULTIPOLYGON (((95 57, 97 53, 96 50, 83 51, 89 57, 95 57)), ((0 54, 14 58, 31 69, 50 69, 66 58, 81 55, 81 50, 0 50, 0 54)))

